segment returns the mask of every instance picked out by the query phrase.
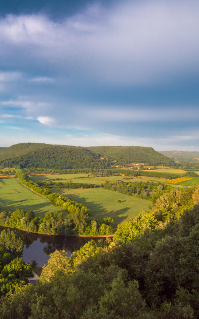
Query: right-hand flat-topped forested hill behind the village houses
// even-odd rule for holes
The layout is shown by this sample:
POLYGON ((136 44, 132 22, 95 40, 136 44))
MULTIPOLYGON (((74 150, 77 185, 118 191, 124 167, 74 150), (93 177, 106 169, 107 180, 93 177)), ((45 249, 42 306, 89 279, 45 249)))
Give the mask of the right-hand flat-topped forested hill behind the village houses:
POLYGON ((151 165, 158 163, 171 165, 172 160, 162 156, 152 147, 143 146, 90 146, 88 150, 100 154, 100 157, 116 160, 117 162, 132 163, 141 162, 151 165))

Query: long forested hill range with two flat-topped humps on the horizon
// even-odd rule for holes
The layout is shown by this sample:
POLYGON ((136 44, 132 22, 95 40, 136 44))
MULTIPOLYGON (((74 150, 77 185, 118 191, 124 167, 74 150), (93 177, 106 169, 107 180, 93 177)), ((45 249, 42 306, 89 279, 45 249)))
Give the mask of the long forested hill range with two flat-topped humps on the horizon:
POLYGON ((89 167, 98 169, 132 162, 151 165, 172 164, 171 159, 154 151, 153 148, 141 146, 96 146, 85 148, 80 146, 21 143, 0 151, 0 166, 15 168, 71 169, 89 167))

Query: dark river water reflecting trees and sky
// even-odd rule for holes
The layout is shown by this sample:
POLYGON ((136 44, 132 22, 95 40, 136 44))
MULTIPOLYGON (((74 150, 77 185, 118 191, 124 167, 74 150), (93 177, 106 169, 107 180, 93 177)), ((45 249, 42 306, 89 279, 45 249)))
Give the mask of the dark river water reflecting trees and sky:
MULTIPOLYGON (((6 227, 0 226, 0 232, 6 227)), ((85 243, 91 240, 89 237, 74 237, 74 236, 60 236, 60 235, 42 235, 27 233, 22 230, 17 230, 23 235, 24 251, 23 260, 25 263, 36 260, 38 266, 47 264, 50 258, 49 254, 57 250, 66 250, 67 256, 70 256, 74 250, 80 249, 85 243)))

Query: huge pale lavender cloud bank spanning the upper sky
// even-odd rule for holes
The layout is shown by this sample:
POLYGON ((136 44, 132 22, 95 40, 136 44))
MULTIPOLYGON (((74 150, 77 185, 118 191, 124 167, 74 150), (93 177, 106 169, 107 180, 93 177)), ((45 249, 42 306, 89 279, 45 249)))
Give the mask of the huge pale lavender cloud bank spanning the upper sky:
POLYGON ((127 1, 109 9, 92 5, 59 22, 8 15, 0 19, 1 57, 17 50, 17 63, 28 55, 29 67, 56 67, 69 78, 168 81, 176 72, 198 71, 198 9, 196 1, 127 1))

